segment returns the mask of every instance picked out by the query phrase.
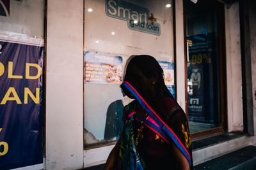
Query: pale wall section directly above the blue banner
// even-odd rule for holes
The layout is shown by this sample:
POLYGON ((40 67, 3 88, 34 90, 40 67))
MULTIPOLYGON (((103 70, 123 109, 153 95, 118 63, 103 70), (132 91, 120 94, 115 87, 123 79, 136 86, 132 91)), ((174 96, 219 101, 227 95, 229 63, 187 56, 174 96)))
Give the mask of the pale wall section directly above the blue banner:
POLYGON ((44 0, 10 0, 10 16, 0 16, 0 30, 44 36, 44 0))

